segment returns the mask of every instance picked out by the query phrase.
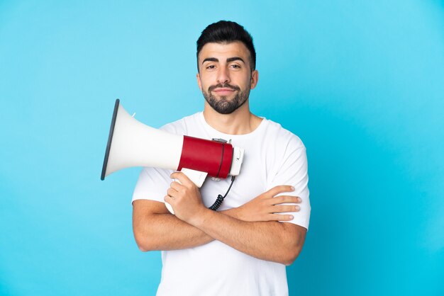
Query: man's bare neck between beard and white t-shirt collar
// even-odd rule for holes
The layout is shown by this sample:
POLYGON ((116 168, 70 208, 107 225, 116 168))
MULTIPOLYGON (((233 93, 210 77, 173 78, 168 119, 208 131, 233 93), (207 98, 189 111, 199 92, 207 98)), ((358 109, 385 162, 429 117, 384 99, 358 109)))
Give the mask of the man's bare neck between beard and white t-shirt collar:
POLYGON ((213 129, 228 135, 248 134, 262 122, 262 118, 250 113, 248 101, 231 114, 217 113, 209 103, 205 102, 204 118, 213 129))

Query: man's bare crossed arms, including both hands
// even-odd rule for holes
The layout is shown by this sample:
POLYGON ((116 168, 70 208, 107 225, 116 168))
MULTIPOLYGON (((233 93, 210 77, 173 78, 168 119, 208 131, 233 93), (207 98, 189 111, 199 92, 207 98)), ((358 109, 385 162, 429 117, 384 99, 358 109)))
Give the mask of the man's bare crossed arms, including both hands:
POLYGON ((249 203, 231 210, 215 212, 201 202, 199 189, 183 173, 173 173, 180 183, 173 182, 164 203, 135 200, 133 231, 142 251, 187 249, 207 244, 214 239, 245 254, 262 260, 291 264, 299 255, 306 229, 291 223, 300 199, 291 195, 275 195, 292 191, 290 186, 277 186, 249 203), (282 205, 293 203, 293 205, 282 205))

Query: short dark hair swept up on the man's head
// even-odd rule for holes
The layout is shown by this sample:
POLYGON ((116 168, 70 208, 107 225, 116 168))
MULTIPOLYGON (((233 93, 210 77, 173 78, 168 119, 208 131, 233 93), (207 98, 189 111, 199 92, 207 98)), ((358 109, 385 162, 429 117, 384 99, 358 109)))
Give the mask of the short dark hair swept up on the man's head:
POLYGON ((254 70, 256 68, 256 50, 252 44, 250 33, 248 33, 242 25, 233 21, 218 21, 206 27, 196 42, 197 71, 199 71, 199 52, 201 52, 202 47, 204 47, 206 43, 229 43, 234 41, 243 42, 248 51, 250 51, 250 67, 251 70, 254 70))

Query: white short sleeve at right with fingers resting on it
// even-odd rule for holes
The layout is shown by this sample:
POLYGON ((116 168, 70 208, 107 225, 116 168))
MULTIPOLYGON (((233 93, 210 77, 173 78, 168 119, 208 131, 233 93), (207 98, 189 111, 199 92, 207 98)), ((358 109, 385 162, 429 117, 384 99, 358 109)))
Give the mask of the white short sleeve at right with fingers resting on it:
POLYGON ((299 137, 292 135, 284 149, 277 151, 277 155, 279 155, 275 158, 277 166, 274 170, 272 181, 267 186, 267 190, 279 185, 293 186, 295 189, 293 192, 282 193, 281 195, 299 196, 302 200, 299 203, 301 210, 299 212, 282 214, 293 215, 294 219, 288 222, 309 229, 311 206, 306 148, 299 140, 299 137))

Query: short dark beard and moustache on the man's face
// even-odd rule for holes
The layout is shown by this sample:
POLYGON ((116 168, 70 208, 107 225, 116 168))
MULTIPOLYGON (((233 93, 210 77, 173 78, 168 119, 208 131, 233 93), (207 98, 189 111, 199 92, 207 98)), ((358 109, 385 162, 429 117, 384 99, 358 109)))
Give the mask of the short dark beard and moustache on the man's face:
POLYGON ((208 88, 208 92, 202 89, 205 100, 209 103, 211 108, 213 108, 217 113, 221 114, 231 114, 242 106, 250 95, 250 86, 245 91, 241 91, 239 86, 232 86, 230 84, 216 84, 208 88), (221 98, 216 98, 213 96, 213 89, 217 88, 227 88, 237 91, 235 96, 229 99, 227 96, 221 96, 221 98))

